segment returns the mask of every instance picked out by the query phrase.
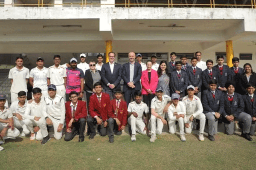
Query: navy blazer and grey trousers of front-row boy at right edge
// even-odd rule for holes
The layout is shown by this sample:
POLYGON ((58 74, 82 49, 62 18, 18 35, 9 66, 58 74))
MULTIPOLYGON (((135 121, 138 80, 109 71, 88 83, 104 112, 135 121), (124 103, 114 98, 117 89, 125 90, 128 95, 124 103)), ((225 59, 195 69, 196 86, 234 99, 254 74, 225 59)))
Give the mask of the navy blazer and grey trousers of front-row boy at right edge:
MULTIPOLYGON (((256 95, 243 95, 244 100, 244 112, 248 113, 251 117, 256 117, 256 95)), ((251 123, 250 135, 254 135, 256 128, 256 122, 251 123)))

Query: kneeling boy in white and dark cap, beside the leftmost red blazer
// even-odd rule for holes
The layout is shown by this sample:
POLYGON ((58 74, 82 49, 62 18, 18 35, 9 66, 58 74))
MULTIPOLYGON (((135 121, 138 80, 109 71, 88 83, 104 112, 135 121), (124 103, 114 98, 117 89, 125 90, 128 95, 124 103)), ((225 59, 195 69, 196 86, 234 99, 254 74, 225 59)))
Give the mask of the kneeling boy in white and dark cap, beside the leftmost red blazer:
POLYGON ((48 96, 44 98, 47 105, 48 125, 53 125, 54 138, 59 140, 62 137, 62 129, 65 119, 65 101, 64 98, 56 94, 56 86, 48 86, 48 96))

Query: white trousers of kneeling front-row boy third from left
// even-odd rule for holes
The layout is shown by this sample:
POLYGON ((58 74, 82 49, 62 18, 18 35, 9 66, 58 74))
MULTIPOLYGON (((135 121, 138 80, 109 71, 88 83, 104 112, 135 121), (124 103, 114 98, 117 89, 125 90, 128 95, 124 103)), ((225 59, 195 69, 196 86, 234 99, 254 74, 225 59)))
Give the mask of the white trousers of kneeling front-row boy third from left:
POLYGON ((27 127, 29 128, 29 131, 31 133, 34 133, 34 127, 33 126, 39 126, 40 130, 36 133, 35 139, 42 140, 44 137, 48 136, 47 131, 47 124, 44 117, 41 117, 39 121, 31 120, 29 122, 29 125, 27 127))

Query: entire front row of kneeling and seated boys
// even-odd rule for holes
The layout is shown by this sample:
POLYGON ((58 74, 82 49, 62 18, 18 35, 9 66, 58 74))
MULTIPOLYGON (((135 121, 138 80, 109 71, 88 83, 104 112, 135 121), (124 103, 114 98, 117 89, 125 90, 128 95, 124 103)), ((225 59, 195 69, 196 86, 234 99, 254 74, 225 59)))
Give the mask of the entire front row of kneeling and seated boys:
MULTIPOLYGON (((89 139, 96 135, 95 125, 101 136, 109 136, 109 142, 113 142, 113 136, 121 135, 125 129, 126 120, 131 125, 131 141, 136 140, 136 132, 141 134, 148 133, 148 107, 141 102, 142 94, 137 91, 135 101, 129 103, 128 109, 126 102, 121 100, 122 92, 116 91, 115 97, 110 101, 108 94, 102 93, 100 82, 94 85, 96 94, 90 97, 89 113, 87 118, 89 139), (143 115, 144 119, 143 119, 143 115), (107 128, 108 127, 108 128, 107 128)), ((241 96, 234 93, 233 82, 225 84, 227 92, 217 89, 217 81, 212 79, 209 82, 209 89, 203 92, 202 102, 195 96, 195 87, 187 87, 188 95, 183 97, 180 102, 178 94, 172 94, 172 98, 163 94, 163 89, 158 87, 156 96, 151 102, 151 138, 154 142, 156 134, 161 134, 163 125, 169 125, 169 132, 174 134, 176 131, 175 122, 177 120, 180 127, 180 140, 186 141, 185 133, 192 132, 193 119, 200 120, 198 139, 204 141, 204 126, 208 119, 209 140, 214 141, 217 133, 218 119, 223 117, 225 133, 234 133, 234 120, 241 125, 241 136, 247 140, 252 140, 250 135, 255 133, 256 121, 256 96, 255 87, 247 86, 247 94, 241 96), (167 121, 165 113, 167 112, 167 121)), ((0 138, 15 138, 20 135, 17 128, 22 128, 21 136, 29 133, 30 139, 42 140, 45 144, 49 139, 47 125, 53 125, 54 137, 59 140, 62 137, 64 119, 66 117, 65 141, 70 141, 79 134, 79 142, 84 141, 84 129, 86 125, 87 110, 85 102, 78 100, 78 94, 71 92, 70 102, 64 103, 63 97, 56 94, 55 85, 49 85, 48 96, 41 99, 41 89, 33 89, 34 100, 26 101, 26 92, 20 91, 17 102, 9 108, 4 106, 6 96, 0 95, 0 138), (65 116, 66 115, 66 116, 65 116)))

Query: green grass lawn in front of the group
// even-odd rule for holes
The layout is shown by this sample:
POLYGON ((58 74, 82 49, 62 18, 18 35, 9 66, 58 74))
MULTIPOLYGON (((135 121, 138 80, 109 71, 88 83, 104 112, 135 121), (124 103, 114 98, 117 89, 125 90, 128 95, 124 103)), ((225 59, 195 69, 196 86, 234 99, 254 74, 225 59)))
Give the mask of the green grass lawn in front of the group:
POLYGON ((70 142, 51 139, 42 146, 41 141, 29 138, 16 139, 2 146, 1 170, 255 170, 256 136, 247 141, 241 136, 218 133, 215 142, 205 136, 199 142, 197 135, 186 135, 181 142, 177 135, 158 135, 154 143, 149 137, 137 135, 115 136, 114 143, 108 137, 87 137, 82 143, 76 136, 70 142), (22 140, 22 141, 21 141, 22 140), (100 160, 97 160, 100 159, 100 160))

